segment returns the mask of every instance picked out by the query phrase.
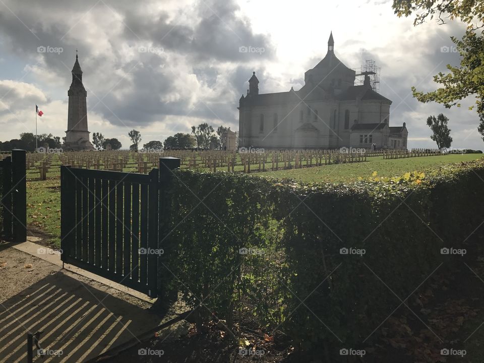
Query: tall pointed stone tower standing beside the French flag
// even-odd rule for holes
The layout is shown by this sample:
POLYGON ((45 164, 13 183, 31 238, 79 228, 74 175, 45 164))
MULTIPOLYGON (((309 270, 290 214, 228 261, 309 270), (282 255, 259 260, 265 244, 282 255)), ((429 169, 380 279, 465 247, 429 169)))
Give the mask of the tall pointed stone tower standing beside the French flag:
POLYGON ((87 92, 82 84, 82 70, 76 53, 76 62, 72 69, 72 83, 68 91, 69 111, 67 117, 66 141, 63 149, 80 151, 94 150, 89 141, 87 128, 87 92))

